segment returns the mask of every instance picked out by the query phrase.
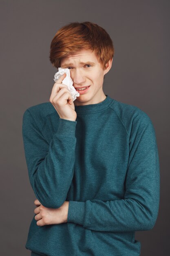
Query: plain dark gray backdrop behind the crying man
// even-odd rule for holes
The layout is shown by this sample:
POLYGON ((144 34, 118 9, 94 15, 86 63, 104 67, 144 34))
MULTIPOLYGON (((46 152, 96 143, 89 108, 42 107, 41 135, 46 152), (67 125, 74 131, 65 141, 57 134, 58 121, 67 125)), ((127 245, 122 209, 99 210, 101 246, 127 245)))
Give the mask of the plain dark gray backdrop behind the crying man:
POLYGON ((34 215, 22 141, 26 108, 49 101, 57 70, 49 61, 51 40, 69 22, 91 21, 110 34, 115 47, 104 92, 135 105, 152 120, 157 136, 161 200, 155 227, 136 232, 141 256, 168 256, 170 1, 1 0, 0 255, 29 256, 25 249, 34 215))

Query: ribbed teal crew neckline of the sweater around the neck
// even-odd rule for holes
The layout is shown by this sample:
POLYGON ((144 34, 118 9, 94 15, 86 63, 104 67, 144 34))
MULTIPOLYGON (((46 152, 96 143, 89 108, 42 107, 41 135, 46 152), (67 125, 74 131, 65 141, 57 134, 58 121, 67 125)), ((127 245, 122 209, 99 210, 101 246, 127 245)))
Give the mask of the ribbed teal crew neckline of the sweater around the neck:
POLYGON ((82 113, 89 113, 89 112, 98 112, 100 110, 104 110, 110 106, 111 103, 113 103, 114 99, 110 98, 108 94, 105 94, 106 99, 104 101, 95 103, 95 104, 88 104, 83 106, 75 106, 75 111, 77 114, 82 113))

